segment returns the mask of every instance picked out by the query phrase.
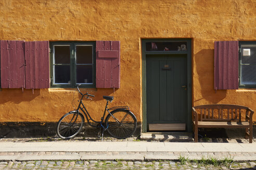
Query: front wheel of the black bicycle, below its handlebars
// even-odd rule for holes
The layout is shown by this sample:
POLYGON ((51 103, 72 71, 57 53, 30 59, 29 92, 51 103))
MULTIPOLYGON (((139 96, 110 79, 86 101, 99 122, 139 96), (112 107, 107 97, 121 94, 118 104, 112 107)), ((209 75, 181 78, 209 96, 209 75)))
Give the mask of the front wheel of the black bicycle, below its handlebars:
POLYGON ((83 125, 84 116, 80 112, 68 112, 57 124, 57 135, 62 139, 71 139, 79 134, 83 125))

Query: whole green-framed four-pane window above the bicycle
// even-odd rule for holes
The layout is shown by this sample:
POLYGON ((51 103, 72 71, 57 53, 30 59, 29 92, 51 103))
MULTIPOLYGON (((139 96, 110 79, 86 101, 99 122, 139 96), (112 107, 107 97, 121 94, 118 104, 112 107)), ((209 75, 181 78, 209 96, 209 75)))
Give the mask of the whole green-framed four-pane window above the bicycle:
POLYGON ((50 87, 95 88, 95 41, 50 42, 50 87))

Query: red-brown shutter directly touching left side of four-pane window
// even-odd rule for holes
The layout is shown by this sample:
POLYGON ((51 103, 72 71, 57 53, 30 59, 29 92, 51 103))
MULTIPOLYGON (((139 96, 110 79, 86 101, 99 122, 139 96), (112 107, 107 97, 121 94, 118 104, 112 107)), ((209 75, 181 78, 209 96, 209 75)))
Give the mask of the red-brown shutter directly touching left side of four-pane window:
POLYGON ((25 88, 49 88, 49 41, 25 42, 25 88))

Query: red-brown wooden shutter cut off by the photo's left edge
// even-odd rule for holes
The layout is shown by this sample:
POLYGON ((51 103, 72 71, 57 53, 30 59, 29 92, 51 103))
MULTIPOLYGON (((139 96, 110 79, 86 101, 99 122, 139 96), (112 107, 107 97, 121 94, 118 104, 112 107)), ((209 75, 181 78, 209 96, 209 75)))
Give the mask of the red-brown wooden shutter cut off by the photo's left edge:
POLYGON ((24 88, 24 41, 1 40, 1 88, 24 88))

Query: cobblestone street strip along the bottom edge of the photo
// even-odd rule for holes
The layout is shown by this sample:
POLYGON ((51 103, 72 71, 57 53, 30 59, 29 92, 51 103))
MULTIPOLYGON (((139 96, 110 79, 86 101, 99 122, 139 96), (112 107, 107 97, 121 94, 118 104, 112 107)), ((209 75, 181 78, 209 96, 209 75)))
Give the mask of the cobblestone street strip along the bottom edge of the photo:
POLYGON ((27 161, 0 162, 1 169, 256 169, 255 162, 199 163, 196 161, 27 161))

